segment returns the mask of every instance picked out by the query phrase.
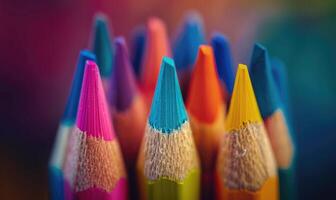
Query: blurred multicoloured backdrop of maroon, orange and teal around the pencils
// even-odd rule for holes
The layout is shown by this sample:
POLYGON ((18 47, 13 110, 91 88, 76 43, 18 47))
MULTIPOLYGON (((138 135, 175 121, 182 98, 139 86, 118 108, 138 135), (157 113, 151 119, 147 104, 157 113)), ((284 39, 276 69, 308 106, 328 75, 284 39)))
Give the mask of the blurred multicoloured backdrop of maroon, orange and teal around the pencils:
POLYGON ((221 31, 235 63, 255 41, 286 64, 298 153, 300 199, 333 199, 336 189, 336 1, 334 0, 1 0, 0 199, 48 199, 47 163, 78 52, 94 13, 106 13, 128 41, 149 16, 171 38, 184 13, 221 31))

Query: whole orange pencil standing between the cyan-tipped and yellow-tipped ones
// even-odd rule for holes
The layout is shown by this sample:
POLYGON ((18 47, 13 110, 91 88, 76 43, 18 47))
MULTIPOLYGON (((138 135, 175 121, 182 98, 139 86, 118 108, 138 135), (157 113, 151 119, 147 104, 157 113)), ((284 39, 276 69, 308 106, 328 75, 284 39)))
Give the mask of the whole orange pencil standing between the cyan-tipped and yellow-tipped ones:
POLYGON ((202 198, 213 199, 213 175, 219 141, 225 131, 226 102, 222 96, 211 46, 201 45, 199 48, 186 104, 201 158, 202 198))

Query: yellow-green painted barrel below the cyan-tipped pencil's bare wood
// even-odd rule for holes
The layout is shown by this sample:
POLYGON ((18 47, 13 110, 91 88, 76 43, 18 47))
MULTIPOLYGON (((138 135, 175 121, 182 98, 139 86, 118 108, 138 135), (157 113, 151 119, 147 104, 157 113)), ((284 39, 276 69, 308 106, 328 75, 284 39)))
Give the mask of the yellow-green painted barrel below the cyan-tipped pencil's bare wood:
POLYGON ((193 170, 183 182, 167 178, 147 181, 148 200, 197 200, 200 191, 200 170, 193 170))

